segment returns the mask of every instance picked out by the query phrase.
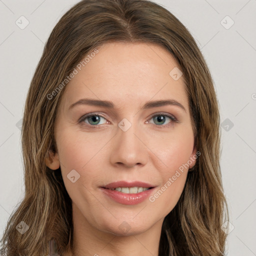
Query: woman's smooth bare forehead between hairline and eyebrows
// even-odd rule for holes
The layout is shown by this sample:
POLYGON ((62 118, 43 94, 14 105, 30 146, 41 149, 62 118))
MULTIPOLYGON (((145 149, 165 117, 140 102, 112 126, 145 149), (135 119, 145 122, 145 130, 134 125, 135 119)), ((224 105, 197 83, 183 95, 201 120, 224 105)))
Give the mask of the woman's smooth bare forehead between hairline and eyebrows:
POLYGON ((174 57, 162 46, 148 43, 112 42, 81 65, 66 85, 62 103, 67 108, 82 97, 106 99, 116 104, 141 104, 175 98, 186 105, 184 80, 173 79, 174 57), (185 97, 185 98, 184 98, 185 97))

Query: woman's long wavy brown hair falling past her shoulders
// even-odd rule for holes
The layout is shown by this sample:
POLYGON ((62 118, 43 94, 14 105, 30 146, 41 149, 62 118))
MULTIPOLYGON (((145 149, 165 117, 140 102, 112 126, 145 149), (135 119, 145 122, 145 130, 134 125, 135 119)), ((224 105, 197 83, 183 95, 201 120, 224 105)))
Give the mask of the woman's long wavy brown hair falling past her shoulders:
POLYGON ((111 41, 161 45, 176 59, 185 80, 195 146, 201 154, 187 174, 178 203, 164 218, 159 255, 223 255, 226 233, 221 225, 228 220, 228 210, 213 80, 185 26, 148 0, 82 0, 53 28, 25 102, 21 131, 25 194, 7 222, 2 255, 46 255, 51 238, 59 254, 72 248, 71 199, 60 169, 50 170, 44 159, 49 150, 56 151, 55 119, 68 83, 63 81, 84 57, 111 41), (16 229, 20 222, 28 225, 23 234, 16 229))

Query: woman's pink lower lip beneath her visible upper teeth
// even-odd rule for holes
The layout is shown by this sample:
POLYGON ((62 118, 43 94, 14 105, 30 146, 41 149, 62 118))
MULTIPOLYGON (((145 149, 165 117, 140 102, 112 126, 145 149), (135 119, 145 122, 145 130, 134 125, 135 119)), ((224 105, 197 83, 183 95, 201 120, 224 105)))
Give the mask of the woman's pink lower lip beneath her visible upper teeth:
POLYGON ((115 200, 116 202, 119 202, 122 204, 127 204, 127 205, 138 204, 138 203, 144 201, 152 193, 154 188, 156 188, 156 187, 153 187, 151 189, 148 189, 148 190, 145 190, 145 191, 142 191, 139 193, 128 194, 128 193, 123 193, 123 192, 120 192, 117 190, 111 190, 111 189, 99 187, 99 189, 104 194, 106 194, 107 196, 109 196, 110 198, 115 200))

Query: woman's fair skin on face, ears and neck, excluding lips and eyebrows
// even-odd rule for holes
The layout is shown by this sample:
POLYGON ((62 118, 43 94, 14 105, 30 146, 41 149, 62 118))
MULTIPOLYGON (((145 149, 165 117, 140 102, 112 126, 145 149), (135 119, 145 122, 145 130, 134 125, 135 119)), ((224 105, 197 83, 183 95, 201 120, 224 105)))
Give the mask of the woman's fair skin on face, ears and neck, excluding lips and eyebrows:
POLYGON ((195 164, 183 76, 174 80, 169 75, 178 65, 159 45, 115 42, 98 49, 66 85, 55 123, 57 153, 50 152, 45 163, 53 170, 60 166, 72 199, 74 255, 158 255, 163 219, 181 195, 188 168, 153 202, 124 205, 99 186, 140 180, 160 189, 182 164, 189 159, 189 168, 195 164), (80 104, 68 110, 85 97, 110 100, 115 108, 80 104), (149 100, 170 98, 185 110, 177 105, 141 108, 149 100), (78 123, 91 112, 103 117, 78 123), (152 117, 159 112, 178 122, 152 117), (118 127, 123 118, 131 123, 126 131, 118 127), (74 183, 67 177, 72 169, 80 175, 74 183), (123 221, 127 232, 120 228, 123 221))

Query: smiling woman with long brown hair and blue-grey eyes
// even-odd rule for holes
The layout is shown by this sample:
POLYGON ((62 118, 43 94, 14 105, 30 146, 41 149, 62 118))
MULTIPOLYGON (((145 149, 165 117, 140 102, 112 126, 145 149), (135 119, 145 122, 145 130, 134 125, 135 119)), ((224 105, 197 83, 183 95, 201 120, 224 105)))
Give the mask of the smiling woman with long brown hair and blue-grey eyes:
POLYGON ((213 81, 160 5, 82 0, 61 17, 27 94, 22 152, 3 255, 224 255, 213 81))

